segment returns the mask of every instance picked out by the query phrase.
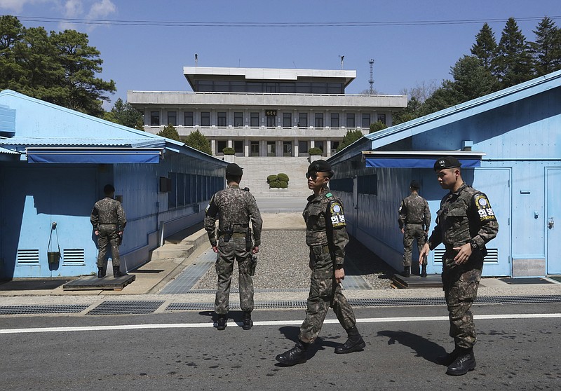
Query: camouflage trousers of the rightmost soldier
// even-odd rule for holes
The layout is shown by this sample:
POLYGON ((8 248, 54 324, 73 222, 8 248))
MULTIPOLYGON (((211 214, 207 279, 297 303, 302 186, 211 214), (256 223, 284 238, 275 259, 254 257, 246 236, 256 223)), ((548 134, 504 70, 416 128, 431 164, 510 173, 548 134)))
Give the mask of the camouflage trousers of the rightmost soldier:
POLYGON ((473 348, 477 341, 470 308, 478 295, 481 270, 480 268, 455 269, 459 268, 445 266, 442 270, 442 289, 448 307, 450 336, 454 338, 454 345, 457 348, 468 349, 473 348))

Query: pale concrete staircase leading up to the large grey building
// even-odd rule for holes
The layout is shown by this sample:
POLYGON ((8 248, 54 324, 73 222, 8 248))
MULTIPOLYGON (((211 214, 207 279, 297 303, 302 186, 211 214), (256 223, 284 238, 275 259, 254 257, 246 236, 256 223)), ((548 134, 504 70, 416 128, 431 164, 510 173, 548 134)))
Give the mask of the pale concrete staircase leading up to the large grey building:
POLYGON ((241 187, 249 187, 256 198, 297 197, 306 198, 311 194, 306 181, 309 162, 305 157, 254 157, 236 156, 234 163, 243 167, 241 187), (270 189, 267 177, 283 172, 288 175, 288 188, 270 189))

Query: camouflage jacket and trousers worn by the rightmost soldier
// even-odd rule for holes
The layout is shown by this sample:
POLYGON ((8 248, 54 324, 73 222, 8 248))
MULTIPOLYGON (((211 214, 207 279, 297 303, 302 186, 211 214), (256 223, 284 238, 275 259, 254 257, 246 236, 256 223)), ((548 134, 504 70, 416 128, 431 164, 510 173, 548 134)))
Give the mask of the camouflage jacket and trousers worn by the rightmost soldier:
POLYGON ((470 349, 476 341, 471 305, 478 293, 487 255, 485 243, 499 232, 499 224, 484 193, 462 184, 455 193, 440 201, 436 226, 428 245, 434 249, 440 243, 446 247, 442 256, 442 289, 450 317, 450 336, 457 348, 470 349), (470 243, 472 253, 466 263, 457 265, 454 247, 470 243))

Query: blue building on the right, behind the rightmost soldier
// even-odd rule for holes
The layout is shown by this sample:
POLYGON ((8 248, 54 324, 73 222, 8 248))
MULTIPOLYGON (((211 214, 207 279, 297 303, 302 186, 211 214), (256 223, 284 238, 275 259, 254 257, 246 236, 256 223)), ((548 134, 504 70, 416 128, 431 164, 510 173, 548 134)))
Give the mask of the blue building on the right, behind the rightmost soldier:
MULTIPOLYGON (((400 200, 417 179, 434 226, 446 193, 433 172, 439 156, 459 158, 499 220, 484 275, 561 274, 561 71, 367 135, 330 158, 350 233, 396 270, 400 200)), ((431 252, 428 273, 440 273, 443 252, 431 252)))

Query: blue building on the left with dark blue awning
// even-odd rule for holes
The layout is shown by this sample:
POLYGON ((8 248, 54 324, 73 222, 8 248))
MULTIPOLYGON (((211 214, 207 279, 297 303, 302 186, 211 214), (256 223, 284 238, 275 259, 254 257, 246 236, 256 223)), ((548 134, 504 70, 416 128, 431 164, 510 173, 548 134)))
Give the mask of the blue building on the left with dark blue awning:
POLYGON ((90 212, 108 183, 128 220, 121 269, 137 268, 163 238, 202 221, 210 196, 224 188, 226 165, 182 142, 4 90, 0 277, 95 273, 90 212), (49 263, 57 245, 62 257, 49 263))

